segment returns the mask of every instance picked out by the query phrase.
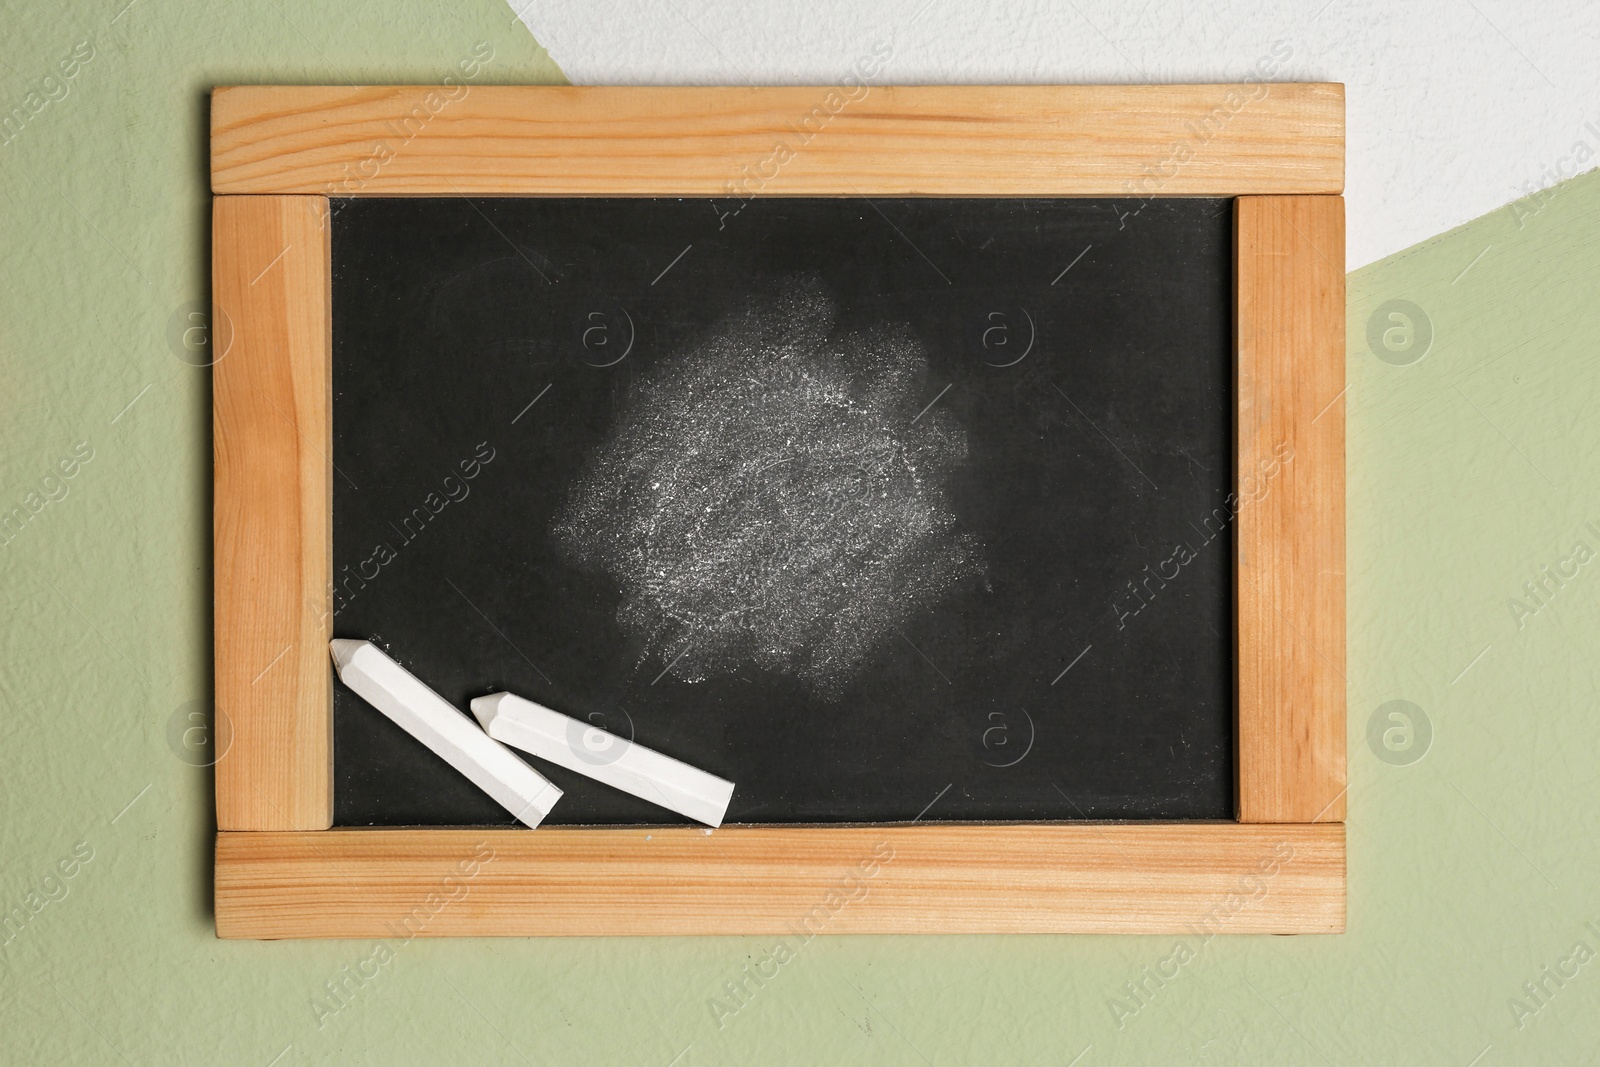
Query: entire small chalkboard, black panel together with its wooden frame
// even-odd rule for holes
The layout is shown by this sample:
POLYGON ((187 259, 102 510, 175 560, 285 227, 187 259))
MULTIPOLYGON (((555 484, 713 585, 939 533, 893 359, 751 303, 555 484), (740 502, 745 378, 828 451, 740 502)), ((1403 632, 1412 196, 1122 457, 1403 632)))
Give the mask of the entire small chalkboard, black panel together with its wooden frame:
POLYGON ((1342 86, 211 123, 219 936, 1344 928, 1342 86), (570 715, 542 822, 336 638, 570 715))

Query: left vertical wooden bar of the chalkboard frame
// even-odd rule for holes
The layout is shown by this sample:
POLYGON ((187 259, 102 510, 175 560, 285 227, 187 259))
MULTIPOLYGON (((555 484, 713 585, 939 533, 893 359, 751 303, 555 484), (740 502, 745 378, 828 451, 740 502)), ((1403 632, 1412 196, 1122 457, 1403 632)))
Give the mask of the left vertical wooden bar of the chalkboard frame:
POLYGON ((333 822, 326 203, 213 205, 213 304, 232 323, 211 371, 216 709, 232 726, 216 765, 224 830, 333 822))

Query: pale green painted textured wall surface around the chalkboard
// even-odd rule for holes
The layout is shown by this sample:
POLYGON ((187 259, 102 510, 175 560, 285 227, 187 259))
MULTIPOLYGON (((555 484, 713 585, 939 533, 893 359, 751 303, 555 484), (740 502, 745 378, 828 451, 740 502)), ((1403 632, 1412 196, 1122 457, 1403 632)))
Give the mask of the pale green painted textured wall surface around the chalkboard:
POLYGON ((0 147, 0 510, 40 510, 0 545, 0 907, 29 915, 0 934, 0 1061, 1592 1054, 1600 961, 1578 957, 1600 952, 1600 563, 1579 557, 1600 550, 1600 181, 1350 278, 1347 934, 1197 944, 1131 1014, 1123 982, 1173 939, 821 937, 720 1029, 710 998, 766 939, 418 941, 318 1013, 374 945, 214 941, 210 776, 171 742, 210 694, 208 378, 170 341, 206 294, 205 91, 438 80, 478 42, 485 82, 562 75, 498 0, 21 0, 6 29, 0 104, 27 120, 0 147), (80 42, 93 58, 43 83, 80 42), (1430 323, 1421 360, 1387 309, 1379 349, 1390 330, 1402 350, 1368 350, 1397 299, 1430 323), (1563 561, 1576 576, 1539 606, 1523 582, 1563 561), (1432 726, 1418 761, 1368 745, 1395 699, 1432 726))

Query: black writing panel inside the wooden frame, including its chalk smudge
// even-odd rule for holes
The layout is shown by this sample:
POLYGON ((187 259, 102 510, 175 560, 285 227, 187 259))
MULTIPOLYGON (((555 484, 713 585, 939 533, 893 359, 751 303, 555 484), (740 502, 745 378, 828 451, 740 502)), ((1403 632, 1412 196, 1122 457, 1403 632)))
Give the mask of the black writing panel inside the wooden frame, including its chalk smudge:
MULTIPOLYGON (((1227 819, 1232 202, 336 200, 334 635, 730 822, 1227 819)), ((549 765, 549 822, 678 822, 549 765)), ((334 822, 509 824, 336 685, 334 822)))

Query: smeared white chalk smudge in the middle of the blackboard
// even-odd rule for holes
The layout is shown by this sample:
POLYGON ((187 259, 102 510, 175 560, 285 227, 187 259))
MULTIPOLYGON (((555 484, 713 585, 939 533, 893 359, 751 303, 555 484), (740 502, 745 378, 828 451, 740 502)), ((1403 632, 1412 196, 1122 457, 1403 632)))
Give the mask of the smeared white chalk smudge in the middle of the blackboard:
MULTIPOLYGON (((645 659, 752 667, 837 697, 984 569, 946 483, 966 434, 904 328, 835 334, 810 282, 723 320, 635 384, 554 534, 622 592, 645 659)), ((906 649, 910 651, 910 649, 906 649)), ((643 661, 642 664, 643 665, 643 661)))

